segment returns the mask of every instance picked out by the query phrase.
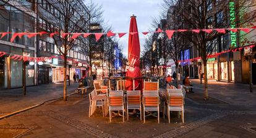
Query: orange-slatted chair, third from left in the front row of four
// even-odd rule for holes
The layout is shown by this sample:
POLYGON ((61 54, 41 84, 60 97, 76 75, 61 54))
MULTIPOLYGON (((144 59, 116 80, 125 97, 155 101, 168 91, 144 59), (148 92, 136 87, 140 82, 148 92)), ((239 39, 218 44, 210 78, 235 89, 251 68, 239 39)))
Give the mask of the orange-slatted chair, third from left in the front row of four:
MULTIPOLYGON (((160 97, 158 91, 143 91, 143 118, 145 123, 145 112, 150 112, 150 115, 158 118, 160 123, 160 97), (158 115, 153 115, 151 112, 158 112, 158 115)), ((150 116, 147 115, 147 116, 150 116)))

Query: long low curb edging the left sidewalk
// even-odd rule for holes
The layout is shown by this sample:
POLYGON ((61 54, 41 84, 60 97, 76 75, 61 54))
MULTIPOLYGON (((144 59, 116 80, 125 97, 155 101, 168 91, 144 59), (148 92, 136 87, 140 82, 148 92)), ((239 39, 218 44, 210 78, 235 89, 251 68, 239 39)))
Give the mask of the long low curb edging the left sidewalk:
MULTIPOLYGON (((67 94, 67 96, 70 96, 70 95, 73 95, 73 94, 76 94, 77 92, 72 92, 71 94, 67 94)), ((63 96, 62 96, 63 97, 63 96)), ((59 99, 62 99, 62 97, 59 97, 59 98, 55 98, 55 99, 51 99, 51 100, 46 100, 44 102, 41 102, 41 104, 37 104, 37 105, 33 105, 32 107, 27 107, 27 108, 23 108, 21 110, 17 110, 15 112, 12 112, 12 113, 8 113, 7 115, 3 115, 3 116, 0 116, 0 120, 4 119, 4 118, 8 118, 12 115, 16 115, 18 113, 22 113, 22 112, 25 112, 27 110, 30 110, 32 108, 36 108, 36 107, 40 107, 41 105, 44 105, 46 102, 50 102, 50 101, 55 101, 55 100, 59 100, 59 99)))

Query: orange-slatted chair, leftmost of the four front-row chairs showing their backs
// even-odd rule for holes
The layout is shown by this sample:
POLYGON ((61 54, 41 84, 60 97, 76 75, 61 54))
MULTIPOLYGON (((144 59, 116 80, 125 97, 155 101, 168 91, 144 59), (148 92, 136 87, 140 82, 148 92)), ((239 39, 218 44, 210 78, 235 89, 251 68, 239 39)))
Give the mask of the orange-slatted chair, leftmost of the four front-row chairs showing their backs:
POLYGON ((109 121, 111 122, 112 117, 114 117, 112 116, 112 112, 118 111, 117 115, 122 116, 122 122, 124 122, 124 92, 109 91, 108 106, 109 106, 109 121), (119 111, 122 111, 122 115, 119 113, 119 111))

